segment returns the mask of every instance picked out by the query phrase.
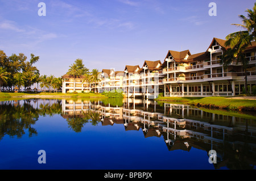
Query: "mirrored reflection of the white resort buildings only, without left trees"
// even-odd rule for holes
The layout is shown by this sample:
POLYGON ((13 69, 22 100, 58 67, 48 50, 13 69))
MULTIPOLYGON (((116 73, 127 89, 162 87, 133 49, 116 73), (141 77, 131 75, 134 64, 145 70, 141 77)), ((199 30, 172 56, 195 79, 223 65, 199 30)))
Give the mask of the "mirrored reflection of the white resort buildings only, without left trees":
MULTIPOLYGON (((123 124, 125 131, 142 131, 144 137, 163 137, 168 150, 216 150, 216 169, 253 169, 256 165, 256 122, 205 112, 185 104, 124 99, 122 106, 101 101, 63 100, 63 115, 100 113, 102 126, 123 124), (236 166, 240 165, 240 166, 236 166)), ((63 116, 63 117, 64 117, 63 116)))

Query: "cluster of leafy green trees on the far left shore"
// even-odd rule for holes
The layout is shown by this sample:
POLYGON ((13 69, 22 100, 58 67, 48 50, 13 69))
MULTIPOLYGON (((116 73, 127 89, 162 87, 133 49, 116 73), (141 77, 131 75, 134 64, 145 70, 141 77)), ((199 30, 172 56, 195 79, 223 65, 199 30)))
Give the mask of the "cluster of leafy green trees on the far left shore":
POLYGON ((3 50, 0 50, 0 91, 20 90, 22 86, 25 91, 30 91, 35 83, 36 90, 39 90, 39 86, 44 91, 61 89, 61 77, 40 75, 38 68, 34 65, 38 61, 39 56, 32 53, 28 59, 24 53, 14 53, 8 57, 3 50))

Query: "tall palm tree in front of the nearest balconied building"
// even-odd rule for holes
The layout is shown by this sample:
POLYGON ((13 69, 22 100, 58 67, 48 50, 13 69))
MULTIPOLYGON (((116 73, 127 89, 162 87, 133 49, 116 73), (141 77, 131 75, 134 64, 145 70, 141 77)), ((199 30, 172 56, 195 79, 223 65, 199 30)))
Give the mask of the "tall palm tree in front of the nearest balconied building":
POLYGON ((239 15, 242 20, 242 24, 232 24, 237 27, 241 27, 244 31, 238 31, 230 33, 226 36, 225 45, 228 50, 222 55, 221 64, 226 68, 235 59, 241 62, 243 69, 245 70, 245 92, 247 93, 247 65, 249 60, 245 57, 245 49, 251 45, 251 41, 256 40, 256 3, 254 3, 253 10, 246 10, 247 18, 243 15, 239 15))

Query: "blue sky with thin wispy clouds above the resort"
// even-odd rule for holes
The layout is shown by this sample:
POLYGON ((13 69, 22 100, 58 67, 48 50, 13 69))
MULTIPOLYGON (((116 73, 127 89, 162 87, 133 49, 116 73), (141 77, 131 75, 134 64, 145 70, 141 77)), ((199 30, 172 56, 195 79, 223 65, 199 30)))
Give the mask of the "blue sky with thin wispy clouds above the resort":
POLYGON ((240 29, 255 1, 171 0, 0 0, 0 49, 7 56, 40 56, 40 74, 67 73, 81 58, 90 70, 124 70, 144 60, 163 62, 168 50, 207 50, 213 37, 240 29), (39 2, 46 16, 39 16, 39 2), (217 16, 209 16, 210 2, 217 16))

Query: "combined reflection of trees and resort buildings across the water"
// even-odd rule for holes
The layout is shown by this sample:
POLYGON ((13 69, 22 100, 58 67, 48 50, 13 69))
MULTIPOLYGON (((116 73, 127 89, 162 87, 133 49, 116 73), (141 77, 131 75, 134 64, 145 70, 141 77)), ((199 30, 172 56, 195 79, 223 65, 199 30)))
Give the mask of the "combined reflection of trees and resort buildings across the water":
POLYGON ((32 125, 39 116, 61 115, 69 127, 81 132, 86 123, 123 125, 142 131, 145 138, 163 138, 169 151, 192 148, 216 150, 216 169, 253 169, 256 165, 256 120, 210 113, 185 104, 141 99, 26 99, 0 102, 0 140, 7 134, 38 134, 32 125))

